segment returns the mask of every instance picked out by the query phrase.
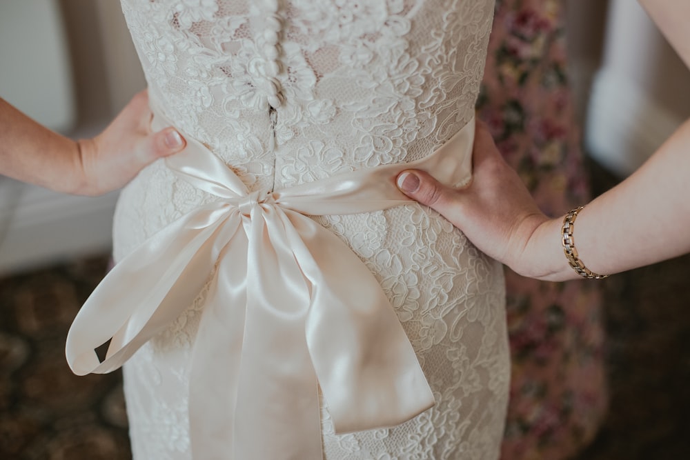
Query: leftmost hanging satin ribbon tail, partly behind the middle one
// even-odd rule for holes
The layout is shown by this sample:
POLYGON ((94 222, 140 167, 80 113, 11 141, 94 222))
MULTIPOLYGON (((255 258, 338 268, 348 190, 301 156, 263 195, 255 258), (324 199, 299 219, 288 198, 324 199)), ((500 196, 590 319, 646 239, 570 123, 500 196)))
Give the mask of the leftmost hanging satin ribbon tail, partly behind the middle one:
POLYGON ((228 456, 235 445, 237 386, 246 314, 248 241, 239 230, 220 256, 192 352, 189 421, 194 458, 228 456))

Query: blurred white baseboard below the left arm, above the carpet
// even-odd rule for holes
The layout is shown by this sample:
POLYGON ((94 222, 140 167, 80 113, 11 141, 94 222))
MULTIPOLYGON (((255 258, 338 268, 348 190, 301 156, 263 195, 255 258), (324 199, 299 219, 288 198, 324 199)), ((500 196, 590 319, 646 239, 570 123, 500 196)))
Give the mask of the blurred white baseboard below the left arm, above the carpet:
POLYGON ((0 274, 107 252, 117 192, 75 197, 0 177, 0 274))

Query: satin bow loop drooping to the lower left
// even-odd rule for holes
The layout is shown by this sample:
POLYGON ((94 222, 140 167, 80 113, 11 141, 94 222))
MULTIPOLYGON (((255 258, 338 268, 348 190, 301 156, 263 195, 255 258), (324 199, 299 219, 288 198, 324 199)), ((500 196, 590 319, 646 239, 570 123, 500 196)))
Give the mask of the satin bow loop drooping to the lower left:
POLYGON ((226 212, 217 206, 190 212, 113 268, 68 332, 65 351, 72 372, 112 372, 190 306, 215 263, 213 236, 226 212), (101 363, 95 348, 108 340, 101 363))

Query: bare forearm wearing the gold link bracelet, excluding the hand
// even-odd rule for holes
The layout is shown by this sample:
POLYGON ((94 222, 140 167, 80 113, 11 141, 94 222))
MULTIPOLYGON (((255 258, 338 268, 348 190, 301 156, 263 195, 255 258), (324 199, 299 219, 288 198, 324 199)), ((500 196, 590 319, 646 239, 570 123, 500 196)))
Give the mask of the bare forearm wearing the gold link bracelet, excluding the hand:
MULTIPOLYGON (((587 205, 575 221, 575 246, 589 270, 622 272, 690 252, 690 121, 647 163, 587 205)), ((579 277, 562 251, 562 217, 543 223, 525 253, 541 254, 541 279, 579 277)))

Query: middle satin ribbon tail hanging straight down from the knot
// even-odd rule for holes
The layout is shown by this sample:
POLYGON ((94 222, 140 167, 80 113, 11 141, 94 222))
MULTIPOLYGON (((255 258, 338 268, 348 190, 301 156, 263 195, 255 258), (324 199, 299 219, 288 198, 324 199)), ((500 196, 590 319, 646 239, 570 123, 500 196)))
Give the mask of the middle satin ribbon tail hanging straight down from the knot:
POLYGON ((304 337, 309 290, 278 214, 257 207, 246 223, 248 304, 233 458, 321 460, 318 386, 304 337))

